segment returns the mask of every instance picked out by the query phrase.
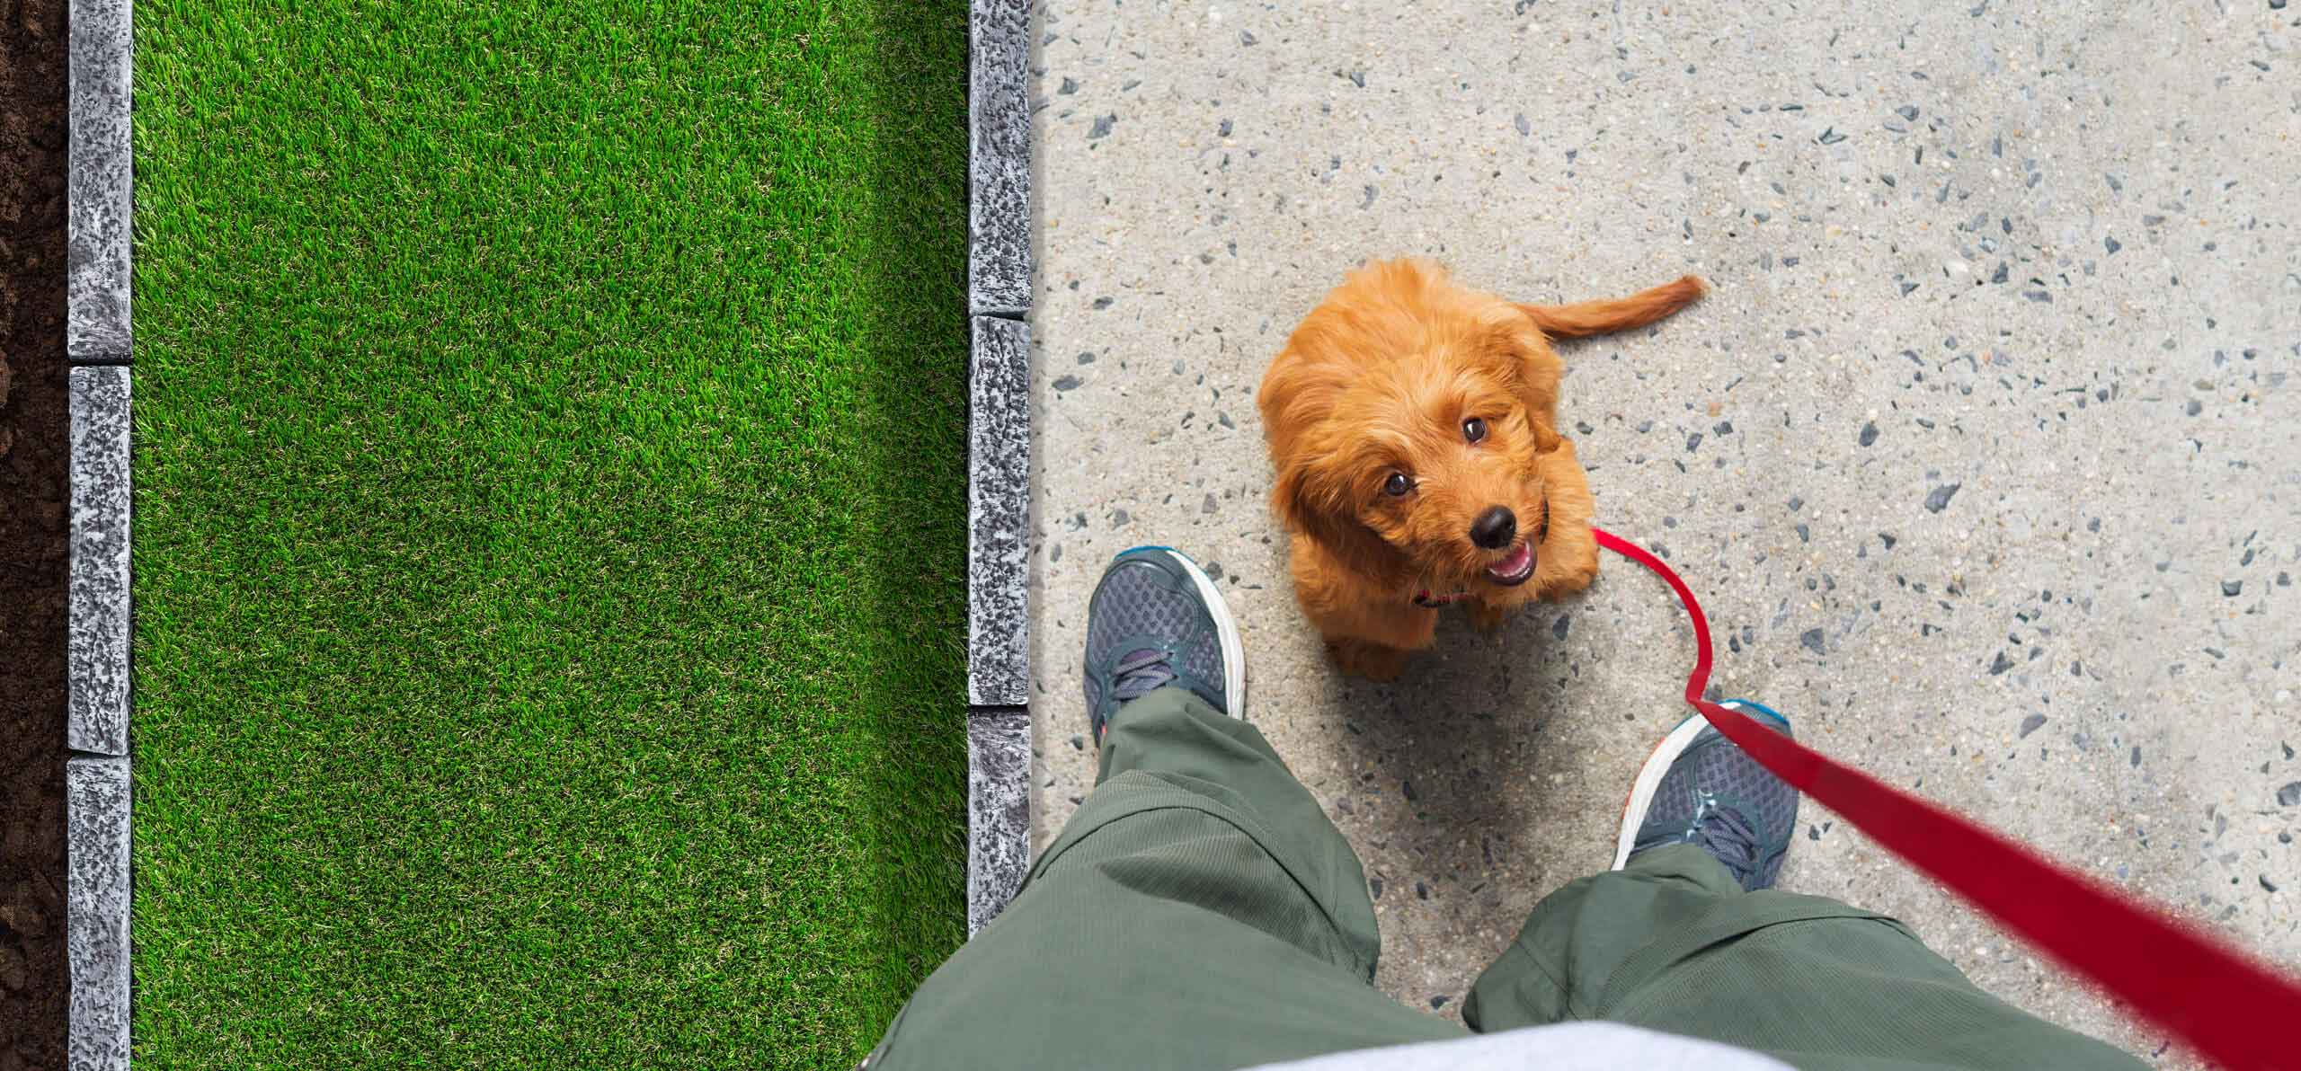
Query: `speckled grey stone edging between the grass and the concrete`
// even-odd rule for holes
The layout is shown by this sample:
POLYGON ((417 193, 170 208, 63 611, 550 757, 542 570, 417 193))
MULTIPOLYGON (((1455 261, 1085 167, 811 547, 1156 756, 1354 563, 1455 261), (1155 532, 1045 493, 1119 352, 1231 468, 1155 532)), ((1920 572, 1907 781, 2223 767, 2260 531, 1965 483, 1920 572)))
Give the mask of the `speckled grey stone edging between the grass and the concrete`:
POLYGON ((1031 0, 966 11, 966 933, 1031 864, 1031 0))

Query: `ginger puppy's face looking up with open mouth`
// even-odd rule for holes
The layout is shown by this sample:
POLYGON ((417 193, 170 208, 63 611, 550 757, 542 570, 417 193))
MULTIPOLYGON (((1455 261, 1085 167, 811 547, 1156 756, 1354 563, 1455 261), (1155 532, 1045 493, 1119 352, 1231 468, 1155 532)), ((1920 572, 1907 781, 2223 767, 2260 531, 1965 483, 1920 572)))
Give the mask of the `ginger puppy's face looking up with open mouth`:
POLYGON ((1321 404, 1291 407, 1275 496, 1289 526, 1362 572, 1512 602, 1542 554, 1560 437, 1530 409, 1519 352, 1544 342, 1507 306, 1493 317, 1360 363, 1314 391, 1321 404))

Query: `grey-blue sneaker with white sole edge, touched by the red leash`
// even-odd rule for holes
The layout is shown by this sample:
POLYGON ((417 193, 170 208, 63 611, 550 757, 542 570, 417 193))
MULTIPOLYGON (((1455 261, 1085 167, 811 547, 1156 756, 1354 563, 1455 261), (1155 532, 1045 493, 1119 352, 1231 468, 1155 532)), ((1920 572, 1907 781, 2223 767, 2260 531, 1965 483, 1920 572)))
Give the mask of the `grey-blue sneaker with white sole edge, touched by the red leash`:
MULTIPOLYGON (((1730 699, 1719 706, 1790 735, 1790 719, 1760 703, 1730 699)), ((1797 788, 1694 715, 1671 729, 1638 770, 1622 807, 1613 869, 1620 871, 1648 848, 1698 843, 1726 864, 1742 889, 1765 889, 1774 885, 1781 860, 1790 855, 1792 832, 1797 832, 1797 788)))

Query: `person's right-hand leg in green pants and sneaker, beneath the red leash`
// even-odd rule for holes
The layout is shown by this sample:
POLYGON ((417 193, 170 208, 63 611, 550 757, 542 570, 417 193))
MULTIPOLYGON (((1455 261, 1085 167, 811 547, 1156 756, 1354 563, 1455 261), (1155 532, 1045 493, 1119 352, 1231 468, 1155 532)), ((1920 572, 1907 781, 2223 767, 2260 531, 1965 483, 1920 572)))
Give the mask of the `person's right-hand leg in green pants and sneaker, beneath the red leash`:
POLYGON ((2145 1066, 1983 993, 1901 922, 1772 889, 1797 793, 1714 729, 1657 749, 1622 825, 1627 864, 1546 896, 1480 974, 1473 1030, 1601 1018, 1806 1071, 2145 1066))

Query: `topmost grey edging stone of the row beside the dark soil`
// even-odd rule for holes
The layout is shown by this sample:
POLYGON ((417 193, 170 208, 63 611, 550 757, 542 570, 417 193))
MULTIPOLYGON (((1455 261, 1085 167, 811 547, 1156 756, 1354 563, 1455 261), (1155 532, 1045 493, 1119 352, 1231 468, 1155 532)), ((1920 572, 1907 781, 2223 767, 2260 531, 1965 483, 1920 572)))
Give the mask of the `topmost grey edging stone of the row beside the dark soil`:
POLYGON ((71 0, 64 352, 129 359, 131 0, 71 0))

